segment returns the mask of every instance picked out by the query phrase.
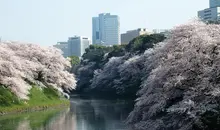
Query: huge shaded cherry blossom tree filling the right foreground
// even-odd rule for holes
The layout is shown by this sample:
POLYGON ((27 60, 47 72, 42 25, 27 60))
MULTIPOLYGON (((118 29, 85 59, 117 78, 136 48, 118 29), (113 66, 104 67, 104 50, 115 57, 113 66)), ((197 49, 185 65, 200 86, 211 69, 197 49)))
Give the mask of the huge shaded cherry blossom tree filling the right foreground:
POLYGON ((127 122, 134 130, 220 127, 220 26, 192 21, 145 53, 145 77, 127 122))

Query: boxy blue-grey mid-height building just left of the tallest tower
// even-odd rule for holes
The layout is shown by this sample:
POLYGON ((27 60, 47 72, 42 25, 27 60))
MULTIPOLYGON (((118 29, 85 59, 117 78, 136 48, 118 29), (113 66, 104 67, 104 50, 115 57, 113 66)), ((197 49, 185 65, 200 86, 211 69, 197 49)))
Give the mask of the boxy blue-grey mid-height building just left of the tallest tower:
POLYGON ((84 53, 86 48, 89 47, 91 41, 87 37, 82 36, 75 36, 70 37, 68 40, 68 56, 78 56, 81 57, 84 53))

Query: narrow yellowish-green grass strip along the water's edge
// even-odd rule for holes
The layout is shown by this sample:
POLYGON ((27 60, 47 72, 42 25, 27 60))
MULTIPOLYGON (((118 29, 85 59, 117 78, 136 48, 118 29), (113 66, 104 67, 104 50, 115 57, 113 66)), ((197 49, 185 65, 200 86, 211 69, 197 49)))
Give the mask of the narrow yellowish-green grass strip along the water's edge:
POLYGON ((44 111, 48 109, 67 108, 70 106, 70 100, 58 101, 55 104, 39 104, 35 106, 29 105, 14 105, 11 107, 0 107, 0 116, 9 114, 20 114, 26 112, 44 111))

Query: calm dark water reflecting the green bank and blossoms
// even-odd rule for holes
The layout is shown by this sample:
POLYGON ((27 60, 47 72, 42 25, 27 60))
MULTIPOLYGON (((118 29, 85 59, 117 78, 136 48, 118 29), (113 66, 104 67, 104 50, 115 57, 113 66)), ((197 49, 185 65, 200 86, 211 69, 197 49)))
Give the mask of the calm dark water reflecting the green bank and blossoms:
POLYGON ((0 116, 0 130, 128 130, 132 108, 130 100, 74 96, 67 109, 0 116))

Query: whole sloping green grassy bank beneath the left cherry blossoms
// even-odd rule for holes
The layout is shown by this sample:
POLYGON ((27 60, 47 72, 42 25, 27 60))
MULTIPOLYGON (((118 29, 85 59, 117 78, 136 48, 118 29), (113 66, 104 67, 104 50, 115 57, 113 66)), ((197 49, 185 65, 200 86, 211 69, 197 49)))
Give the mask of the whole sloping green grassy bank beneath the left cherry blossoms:
POLYGON ((69 100, 60 97, 53 88, 32 87, 29 100, 19 100, 9 89, 0 86, 0 115, 69 106, 69 100))

